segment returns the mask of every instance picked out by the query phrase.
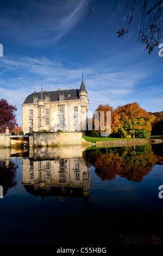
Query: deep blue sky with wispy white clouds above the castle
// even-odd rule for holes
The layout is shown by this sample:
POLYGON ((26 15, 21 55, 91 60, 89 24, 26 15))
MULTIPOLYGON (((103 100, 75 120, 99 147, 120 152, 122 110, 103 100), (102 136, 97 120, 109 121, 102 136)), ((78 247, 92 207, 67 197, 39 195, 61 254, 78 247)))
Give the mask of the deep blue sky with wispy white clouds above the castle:
POLYGON ((118 39, 126 2, 92 0, 94 15, 87 19, 87 0, 1 0, 0 94, 16 105, 19 126, 21 104, 35 88, 80 88, 82 72, 90 112, 132 102, 163 111, 163 57, 159 48, 149 55, 137 42, 139 15, 118 39))

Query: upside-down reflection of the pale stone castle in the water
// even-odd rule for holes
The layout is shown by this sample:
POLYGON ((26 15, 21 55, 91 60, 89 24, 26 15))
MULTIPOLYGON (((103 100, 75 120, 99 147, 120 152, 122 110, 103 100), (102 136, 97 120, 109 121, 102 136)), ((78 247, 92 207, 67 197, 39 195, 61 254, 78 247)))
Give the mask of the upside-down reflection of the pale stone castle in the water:
POLYGON ((82 147, 30 149, 22 159, 22 185, 35 197, 88 198, 90 167, 82 147))

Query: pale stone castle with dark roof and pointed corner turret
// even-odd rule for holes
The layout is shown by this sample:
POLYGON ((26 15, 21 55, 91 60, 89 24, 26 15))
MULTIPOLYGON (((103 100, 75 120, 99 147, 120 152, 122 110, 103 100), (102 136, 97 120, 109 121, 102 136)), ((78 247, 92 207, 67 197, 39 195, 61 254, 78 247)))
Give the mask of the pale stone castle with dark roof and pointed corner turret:
POLYGON ((85 131, 89 100, 82 76, 80 89, 42 90, 27 96, 22 104, 22 131, 85 131))

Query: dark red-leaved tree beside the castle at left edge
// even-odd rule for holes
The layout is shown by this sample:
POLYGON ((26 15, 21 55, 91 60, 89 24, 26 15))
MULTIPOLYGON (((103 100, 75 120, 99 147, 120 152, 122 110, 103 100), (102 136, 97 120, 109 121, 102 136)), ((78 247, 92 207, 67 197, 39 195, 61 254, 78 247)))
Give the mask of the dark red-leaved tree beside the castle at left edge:
POLYGON ((6 127, 11 131, 18 126, 15 111, 17 111, 16 106, 9 105, 5 99, 0 100, 0 132, 5 132, 6 127))

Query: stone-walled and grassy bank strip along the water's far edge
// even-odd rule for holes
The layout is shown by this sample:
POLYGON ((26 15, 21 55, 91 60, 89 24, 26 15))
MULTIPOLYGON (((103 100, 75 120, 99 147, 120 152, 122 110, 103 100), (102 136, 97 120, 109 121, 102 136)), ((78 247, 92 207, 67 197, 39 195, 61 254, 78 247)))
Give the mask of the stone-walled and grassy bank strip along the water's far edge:
POLYGON ((86 147, 125 147, 163 143, 163 136, 150 139, 105 138, 82 136, 82 132, 32 132, 29 136, 11 136, 9 130, 0 134, 0 148, 39 148, 84 145, 86 147), (160 139, 162 138, 162 139, 160 139))

